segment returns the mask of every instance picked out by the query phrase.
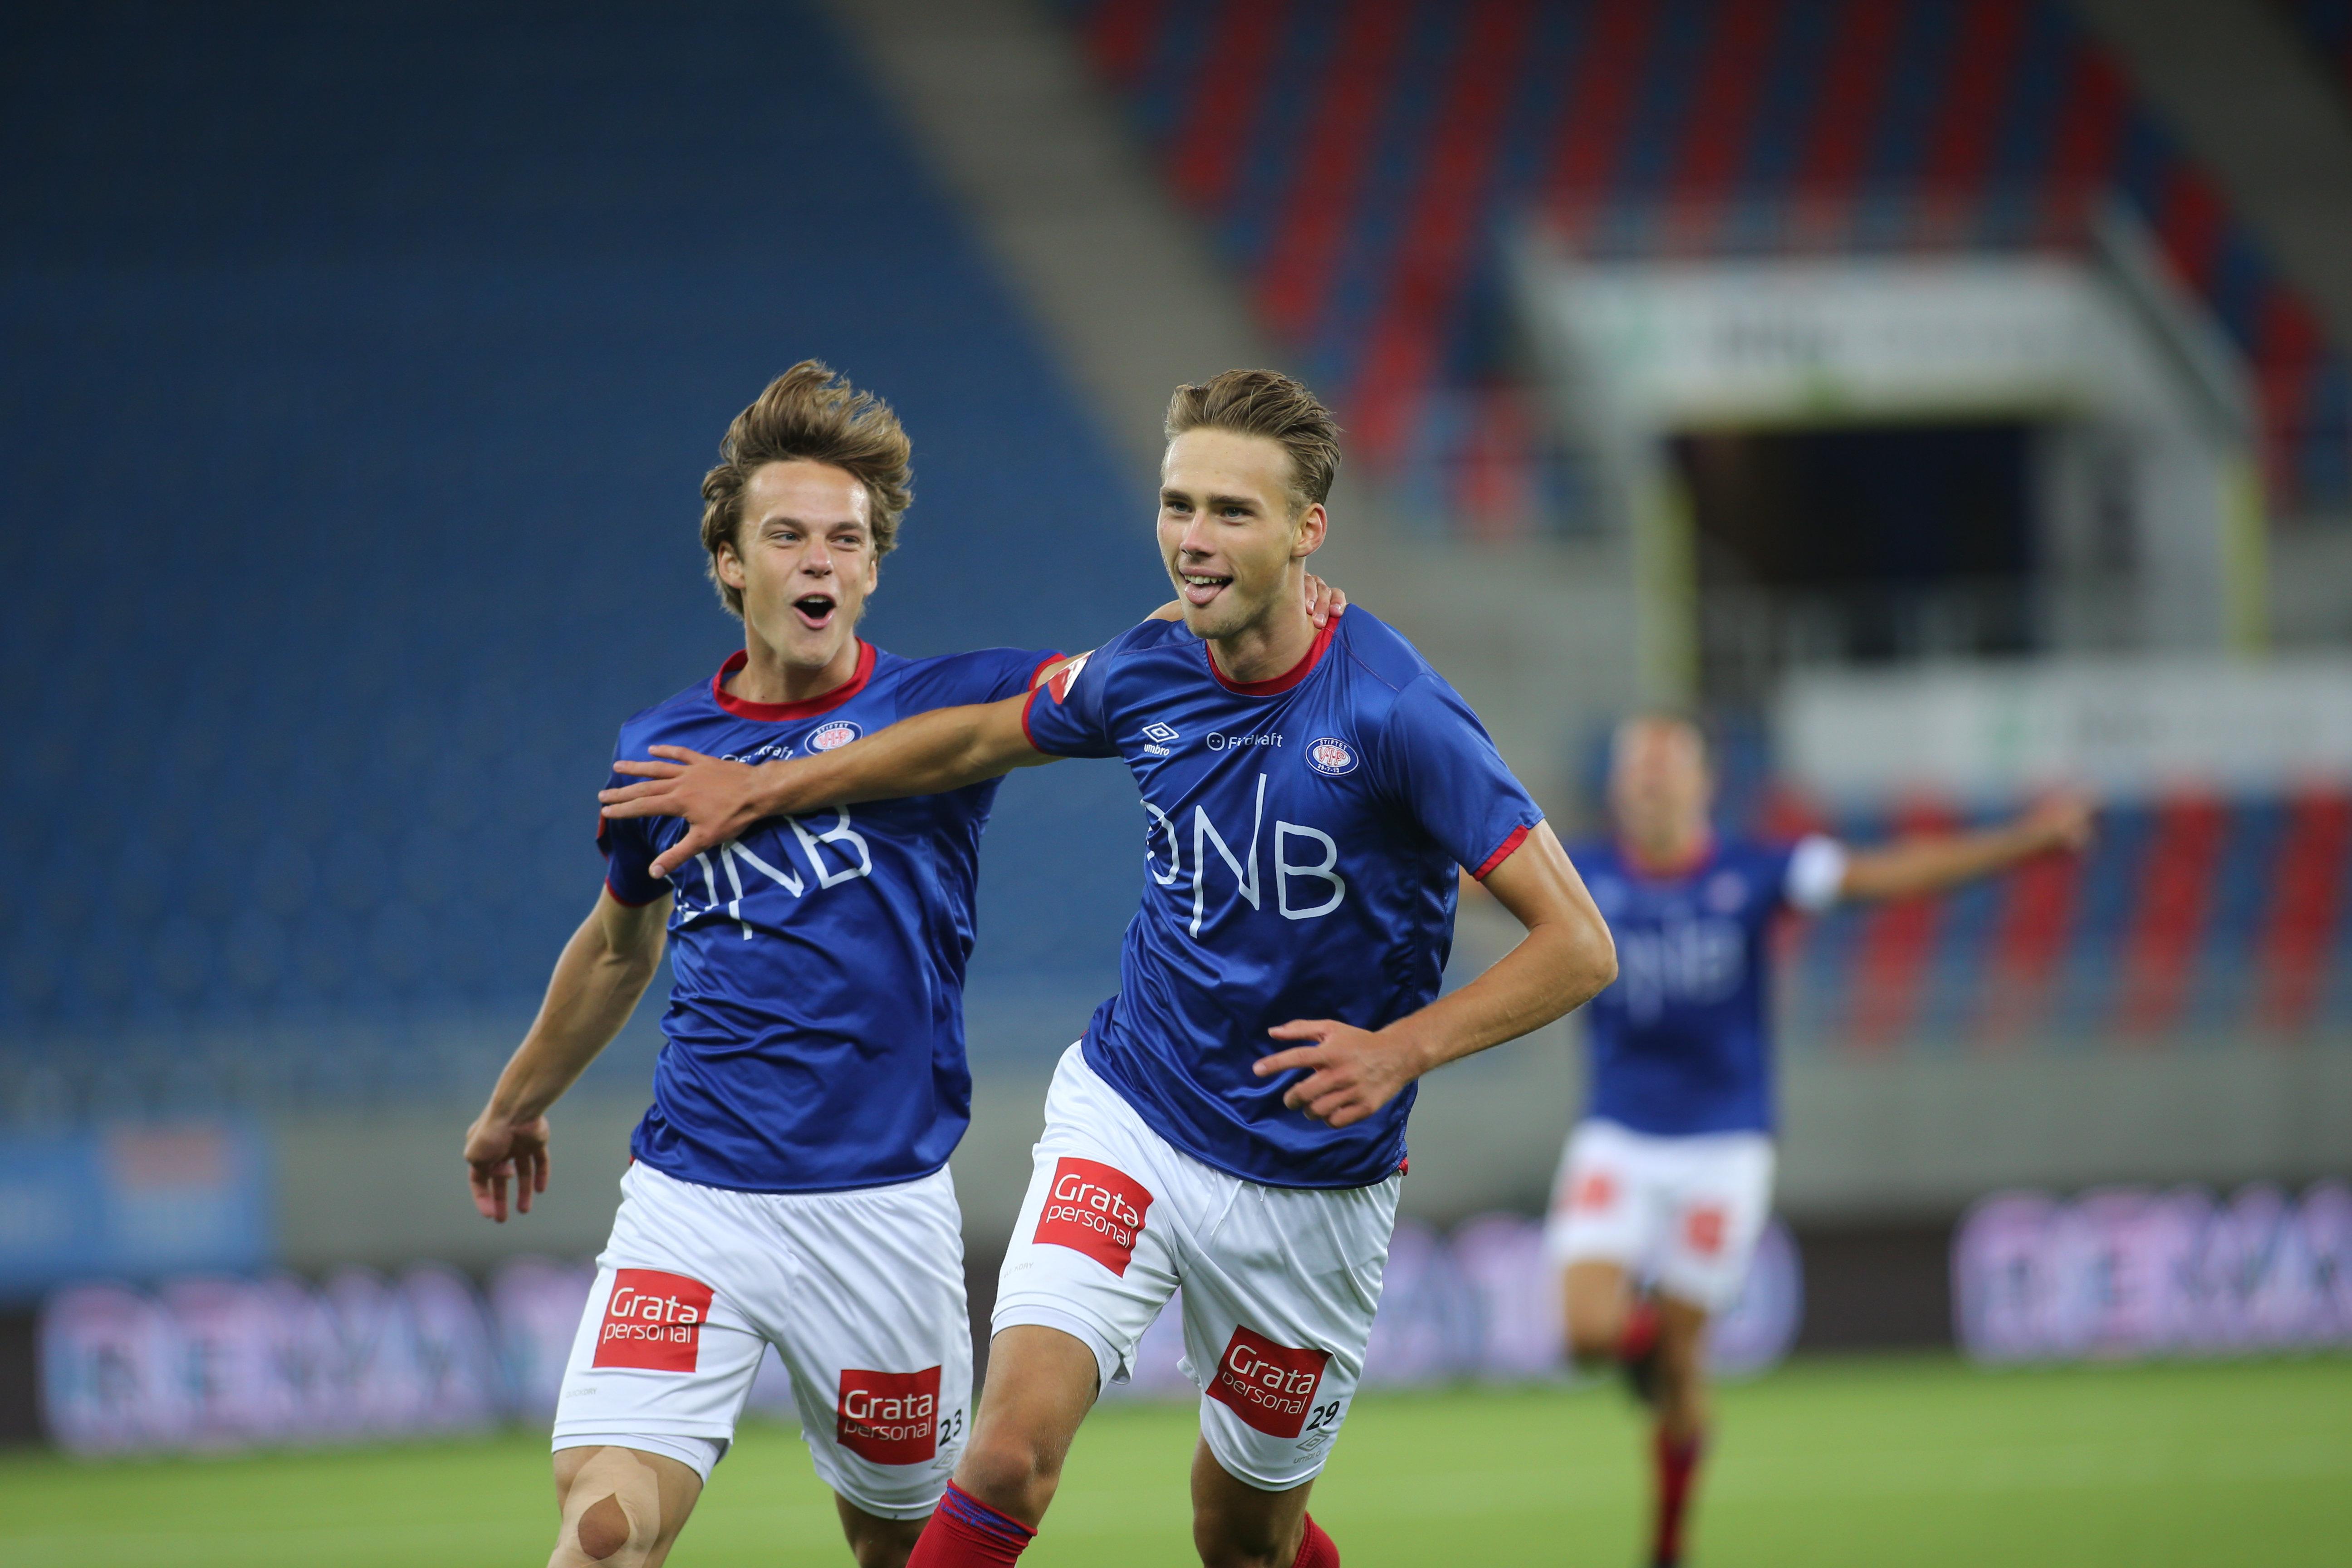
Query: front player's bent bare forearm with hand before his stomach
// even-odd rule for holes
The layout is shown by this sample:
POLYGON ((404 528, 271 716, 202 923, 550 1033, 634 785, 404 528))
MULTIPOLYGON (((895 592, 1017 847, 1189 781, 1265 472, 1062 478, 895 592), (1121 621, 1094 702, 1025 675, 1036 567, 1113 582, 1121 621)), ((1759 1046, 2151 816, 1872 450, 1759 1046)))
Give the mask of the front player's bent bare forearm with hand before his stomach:
POLYGON ((1536 823, 1484 886, 1526 926, 1526 938, 1470 985, 1385 1030, 1331 1018, 1268 1030, 1275 1039, 1308 1041, 1256 1065, 1261 1079, 1310 1070, 1282 1095, 1284 1105, 1331 1126, 1362 1121, 1423 1072, 1541 1030, 1616 980, 1609 924, 1550 823, 1536 823))

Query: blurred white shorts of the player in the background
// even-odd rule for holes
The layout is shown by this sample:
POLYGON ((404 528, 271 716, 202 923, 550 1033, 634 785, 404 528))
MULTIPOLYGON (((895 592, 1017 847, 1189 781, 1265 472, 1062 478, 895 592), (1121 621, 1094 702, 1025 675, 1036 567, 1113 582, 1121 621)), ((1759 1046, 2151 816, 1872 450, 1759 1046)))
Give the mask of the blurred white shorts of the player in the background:
POLYGON ((1675 1300, 1724 1312, 1771 1215, 1764 1133, 1661 1138, 1616 1121, 1569 1133, 1543 1227, 1555 1262, 1616 1262, 1675 1300))

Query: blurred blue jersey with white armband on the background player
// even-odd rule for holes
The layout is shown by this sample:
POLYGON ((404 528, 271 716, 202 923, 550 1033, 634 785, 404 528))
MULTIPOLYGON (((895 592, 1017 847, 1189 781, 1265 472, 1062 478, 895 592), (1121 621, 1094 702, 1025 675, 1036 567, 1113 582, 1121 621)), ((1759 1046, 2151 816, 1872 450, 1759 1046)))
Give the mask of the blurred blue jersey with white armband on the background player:
POLYGON ((1571 858, 1618 950, 1616 983, 1585 1006, 1588 1114, 1637 1133, 1769 1133, 1773 917, 1825 907, 1844 853, 1731 842, 1672 877, 1606 842, 1571 858))

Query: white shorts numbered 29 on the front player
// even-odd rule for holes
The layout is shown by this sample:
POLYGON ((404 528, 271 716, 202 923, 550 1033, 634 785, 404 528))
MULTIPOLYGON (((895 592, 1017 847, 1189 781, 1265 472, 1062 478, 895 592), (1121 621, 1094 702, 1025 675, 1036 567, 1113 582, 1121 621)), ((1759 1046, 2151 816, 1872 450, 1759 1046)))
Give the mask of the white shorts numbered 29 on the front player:
POLYGON ((1094 1349, 1103 1385, 1183 1286, 1200 1432, 1240 1481, 1279 1493, 1331 1455, 1364 1373, 1399 1178, 1265 1187, 1192 1159, 1063 1051, 997 1288, 995 1331, 1037 1324, 1094 1349))

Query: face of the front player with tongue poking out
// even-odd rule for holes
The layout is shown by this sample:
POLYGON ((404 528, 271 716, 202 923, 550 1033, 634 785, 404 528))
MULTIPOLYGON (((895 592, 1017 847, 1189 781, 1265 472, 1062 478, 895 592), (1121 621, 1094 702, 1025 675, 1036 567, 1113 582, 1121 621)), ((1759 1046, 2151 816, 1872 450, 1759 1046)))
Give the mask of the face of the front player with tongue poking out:
POLYGON ((1263 435, 1197 428, 1160 463, 1160 559, 1195 637, 1237 637, 1298 604, 1324 508, 1291 512, 1291 458, 1263 435))

